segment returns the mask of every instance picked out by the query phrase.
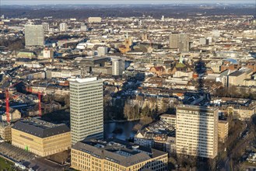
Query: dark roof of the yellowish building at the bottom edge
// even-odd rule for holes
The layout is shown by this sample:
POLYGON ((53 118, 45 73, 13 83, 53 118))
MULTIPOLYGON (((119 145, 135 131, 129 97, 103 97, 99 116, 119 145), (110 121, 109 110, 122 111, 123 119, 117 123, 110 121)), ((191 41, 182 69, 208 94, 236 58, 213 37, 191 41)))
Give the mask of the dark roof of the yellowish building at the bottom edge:
POLYGON ((125 167, 153 159, 160 155, 167 155, 166 152, 161 152, 153 148, 146 148, 114 138, 107 139, 106 141, 96 139, 79 141, 72 148, 81 152, 86 152, 99 159, 116 162, 125 167))

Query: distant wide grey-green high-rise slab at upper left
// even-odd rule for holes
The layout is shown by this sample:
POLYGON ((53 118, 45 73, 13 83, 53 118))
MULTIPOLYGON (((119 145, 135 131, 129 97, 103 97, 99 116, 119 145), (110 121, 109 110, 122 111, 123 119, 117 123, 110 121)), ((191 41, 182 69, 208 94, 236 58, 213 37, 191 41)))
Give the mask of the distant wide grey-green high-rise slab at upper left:
POLYGON ((44 46, 44 27, 42 25, 25 26, 26 46, 44 46))

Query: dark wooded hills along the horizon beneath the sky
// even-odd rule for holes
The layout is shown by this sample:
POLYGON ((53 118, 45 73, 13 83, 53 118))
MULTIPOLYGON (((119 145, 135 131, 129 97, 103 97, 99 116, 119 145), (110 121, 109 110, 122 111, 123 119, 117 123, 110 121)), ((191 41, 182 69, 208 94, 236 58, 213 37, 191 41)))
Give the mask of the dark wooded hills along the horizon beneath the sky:
POLYGON ((131 16, 161 16, 187 18, 196 14, 202 16, 249 15, 255 17, 254 5, 2 5, 0 14, 9 18, 27 17, 54 19, 86 19, 89 16, 100 17, 131 17, 131 16))

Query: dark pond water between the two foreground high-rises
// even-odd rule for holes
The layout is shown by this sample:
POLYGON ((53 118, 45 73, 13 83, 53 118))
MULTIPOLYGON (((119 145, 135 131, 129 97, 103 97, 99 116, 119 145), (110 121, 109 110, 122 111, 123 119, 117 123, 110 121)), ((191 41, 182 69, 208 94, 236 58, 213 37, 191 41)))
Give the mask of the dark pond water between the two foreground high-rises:
POLYGON ((112 122, 104 124, 104 138, 118 138, 121 140, 126 140, 129 138, 134 138, 135 132, 132 128, 139 121, 127 121, 127 122, 112 122), (121 134, 114 134, 113 131, 116 128, 121 128, 123 131, 121 134))

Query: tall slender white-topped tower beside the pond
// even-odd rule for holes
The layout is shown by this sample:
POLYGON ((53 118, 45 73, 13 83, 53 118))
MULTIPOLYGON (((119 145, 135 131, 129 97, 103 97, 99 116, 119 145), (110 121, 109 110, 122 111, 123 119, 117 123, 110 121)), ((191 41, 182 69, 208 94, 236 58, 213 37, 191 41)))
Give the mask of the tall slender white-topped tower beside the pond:
POLYGON ((94 78, 70 79, 72 145, 85 138, 103 138, 103 83, 94 78))

